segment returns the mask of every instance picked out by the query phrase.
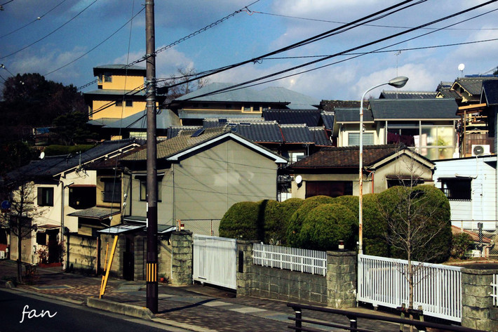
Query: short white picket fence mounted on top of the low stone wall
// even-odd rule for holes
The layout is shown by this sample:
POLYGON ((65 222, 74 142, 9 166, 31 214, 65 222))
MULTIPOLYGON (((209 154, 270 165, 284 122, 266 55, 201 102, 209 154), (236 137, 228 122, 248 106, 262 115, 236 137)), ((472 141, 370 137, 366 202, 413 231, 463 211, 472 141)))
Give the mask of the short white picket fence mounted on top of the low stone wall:
POLYGON ((327 274, 327 252, 325 251, 254 244, 253 263, 323 276, 327 274))

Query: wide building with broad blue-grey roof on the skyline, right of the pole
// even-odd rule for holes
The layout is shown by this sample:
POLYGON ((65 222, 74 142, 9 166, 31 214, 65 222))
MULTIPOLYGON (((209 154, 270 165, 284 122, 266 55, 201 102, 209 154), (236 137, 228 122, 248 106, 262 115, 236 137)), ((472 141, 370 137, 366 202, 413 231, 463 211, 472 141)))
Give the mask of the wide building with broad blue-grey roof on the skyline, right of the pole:
POLYGON ((166 105, 178 114, 184 126, 201 126, 208 118, 261 118, 266 109, 317 109, 318 100, 286 88, 262 91, 213 83, 182 95, 166 105))

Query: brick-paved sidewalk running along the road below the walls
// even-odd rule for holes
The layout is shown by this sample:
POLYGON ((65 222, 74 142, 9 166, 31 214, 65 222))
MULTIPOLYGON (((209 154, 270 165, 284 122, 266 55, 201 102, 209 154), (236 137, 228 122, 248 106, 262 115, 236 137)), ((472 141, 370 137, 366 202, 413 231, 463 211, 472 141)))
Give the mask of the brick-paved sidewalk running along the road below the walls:
MULTIPOLYGON (((133 305, 135 310, 146 307, 146 286, 144 281, 126 281, 109 279, 103 299, 97 301, 100 291, 101 277, 85 277, 79 274, 63 273, 61 267, 38 268, 38 277, 33 285, 20 285, 16 289, 41 296, 66 300, 86 305, 89 297, 107 310, 116 303, 133 305), (110 301, 110 302, 108 302, 110 301)), ((15 262, 0 260, 0 276, 14 277, 15 262)), ((5 282, 1 281, 0 286, 5 282)), ((208 286, 168 286, 159 284, 159 312, 152 320, 185 328, 190 331, 292 331, 288 328, 292 321, 288 317, 294 312, 286 302, 262 298, 240 297, 235 293, 222 291, 208 286)), ((129 306, 127 306, 129 307, 129 306)), ((115 310, 112 310, 115 311, 115 310)), ((148 310, 147 310, 148 311, 148 310)), ((373 310, 354 308, 351 311, 380 314, 373 310)), ((318 312, 303 312, 303 318, 321 319, 349 325, 345 317, 318 312)), ((314 326, 323 331, 344 331, 323 326, 314 326)), ((375 331, 399 331, 397 324, 384 321, 359 320, 358 328, 369 328, 375 331)))

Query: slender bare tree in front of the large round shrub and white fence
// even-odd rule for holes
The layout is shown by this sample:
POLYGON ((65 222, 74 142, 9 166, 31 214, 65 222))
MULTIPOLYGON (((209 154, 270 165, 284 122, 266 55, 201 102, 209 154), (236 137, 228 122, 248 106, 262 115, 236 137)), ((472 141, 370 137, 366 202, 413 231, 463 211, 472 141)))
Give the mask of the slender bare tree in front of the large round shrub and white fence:
POLYGON ((401 272, 408 281, 408 307, 413 309, 415 286, 429 277, 426 265, 415 262, 439 263, 450 255, 450 204, 438 188, 419 185, 422 167, 414 157, 400 162, 405 164, 405 171, 398 171, 400 186, 380 195, 379 211, 386 221, 384 237, 391 253, 408 260, 401 272))

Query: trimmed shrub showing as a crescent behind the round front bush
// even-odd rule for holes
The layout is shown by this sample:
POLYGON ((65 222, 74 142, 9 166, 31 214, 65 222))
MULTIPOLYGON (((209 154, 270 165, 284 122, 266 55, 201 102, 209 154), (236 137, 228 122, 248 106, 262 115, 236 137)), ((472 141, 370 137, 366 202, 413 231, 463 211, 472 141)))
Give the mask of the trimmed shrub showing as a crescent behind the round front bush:
POLYGON ((321 204, 332 204, 334 199, 328 196, 314 196, 304 200, 299 208, 292 214, 287 227, 287 244, 295 248, 304 248, 300 239, 300 232, 304 218, 309 211, 321 204))

